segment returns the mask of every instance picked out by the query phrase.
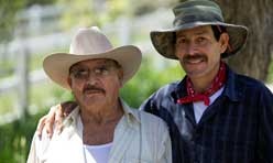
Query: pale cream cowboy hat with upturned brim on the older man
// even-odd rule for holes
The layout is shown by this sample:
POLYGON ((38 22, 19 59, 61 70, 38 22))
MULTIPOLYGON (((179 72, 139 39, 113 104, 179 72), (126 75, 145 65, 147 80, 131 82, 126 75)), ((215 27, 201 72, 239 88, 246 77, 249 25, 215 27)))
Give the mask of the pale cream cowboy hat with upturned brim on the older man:
POLYGON ((109 58, 117 61, 123 69, 124 84, 138 72, 142 54, 133 45, 112 47, 110 41, 97 26, 79 29, 73 37, 69 53, 54 53, 44 58, 47 76, 64 88, 70 89, 67 78, 72 65, 87 59, 109 58))

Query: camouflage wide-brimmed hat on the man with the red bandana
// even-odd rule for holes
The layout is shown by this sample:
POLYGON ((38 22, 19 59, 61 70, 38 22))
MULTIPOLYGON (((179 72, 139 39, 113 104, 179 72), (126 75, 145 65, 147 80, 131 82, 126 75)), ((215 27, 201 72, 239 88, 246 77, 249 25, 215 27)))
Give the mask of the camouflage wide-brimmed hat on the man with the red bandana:
POLYGON ((229 34, 229 48, 221 54, 221 57, 236 54, 245 44, 248 28, 225 23, 221 9, 212 1, 188 0, 176 6, 173 12, 175 14, 173 29, 152 31, 150 33, 155 50, 164 57, 177 59, 175 56, 176 32, 201 25, 226 28, 229 34))

